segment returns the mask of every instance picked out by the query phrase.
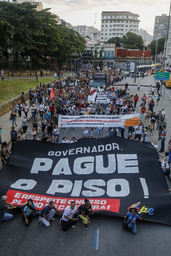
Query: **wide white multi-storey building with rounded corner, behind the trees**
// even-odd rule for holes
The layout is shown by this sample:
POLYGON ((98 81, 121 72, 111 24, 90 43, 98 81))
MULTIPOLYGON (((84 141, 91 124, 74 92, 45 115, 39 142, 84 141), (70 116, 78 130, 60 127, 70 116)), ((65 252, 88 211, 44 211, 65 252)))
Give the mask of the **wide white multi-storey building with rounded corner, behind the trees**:
POLYGON ((130 12, 102 12, 101 42, 113 37, 123 37, 127 32, 138 34, 139 15, 130 12))

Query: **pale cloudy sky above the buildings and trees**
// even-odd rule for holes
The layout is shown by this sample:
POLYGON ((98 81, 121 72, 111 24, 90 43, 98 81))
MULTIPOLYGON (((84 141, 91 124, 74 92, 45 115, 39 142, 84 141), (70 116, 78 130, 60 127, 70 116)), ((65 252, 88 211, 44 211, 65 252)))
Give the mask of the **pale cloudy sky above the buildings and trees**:
POLYGON ((170 1, 163 0, 41 0, 43 9, 51 8, 51 12, 59 15, 60 19, 71 23, 72 26, 86 25, 101 28, 102 11, 130 11, 138 14, 139 29, 153 35, 155 16, 169 14, 170 1), (96 24, 95 23, 96 13, 96 24))

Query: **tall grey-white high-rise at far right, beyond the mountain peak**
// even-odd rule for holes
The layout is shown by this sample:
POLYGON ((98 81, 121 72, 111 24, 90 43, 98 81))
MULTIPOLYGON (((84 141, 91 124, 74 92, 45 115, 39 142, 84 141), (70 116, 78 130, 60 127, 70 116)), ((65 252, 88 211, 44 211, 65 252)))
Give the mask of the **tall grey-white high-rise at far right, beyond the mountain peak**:
POLYGON ((157 40, 157 31, 158 31, 158 39, 166 36, 168 20, 169 20, 169 16, 167 16, 167 14, 162 14, 162 16, 155 17, 153 40, 157 40))

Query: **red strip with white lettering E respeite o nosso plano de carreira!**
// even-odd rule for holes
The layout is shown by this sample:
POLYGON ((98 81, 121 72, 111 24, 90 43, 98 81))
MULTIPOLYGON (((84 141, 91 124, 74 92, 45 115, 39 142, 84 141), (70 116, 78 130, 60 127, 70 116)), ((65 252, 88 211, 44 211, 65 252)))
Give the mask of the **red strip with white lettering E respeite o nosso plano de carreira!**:
MULTIPOLYGON (((46 205, 49 205, 50 201, 54 201, 55 207, 59 211, 64 211, 64 209, 71 204, 72 201, 76 202, 76 208, 79 205, 83 205, 84 199, 81 198, 60 198, 60 197, 48 197, 45 195, 32 194, 27 192, 21 192, 16 190, 7 191, 7 201, 14 206, 23 206, 27 203, 30 198, 33 200, 37 209, 42 210, 46 205)), ((105 198, 93 198, 89 199, 92 210, 101 211, 108 210, 111 212, 118 212, 120 207, 120 199, 105 199, 105 198)))

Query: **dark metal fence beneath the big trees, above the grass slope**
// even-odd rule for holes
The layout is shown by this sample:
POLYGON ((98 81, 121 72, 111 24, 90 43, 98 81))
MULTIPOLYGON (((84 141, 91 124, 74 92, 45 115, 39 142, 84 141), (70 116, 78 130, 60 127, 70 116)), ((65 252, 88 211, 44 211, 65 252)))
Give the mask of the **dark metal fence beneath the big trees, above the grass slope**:
POLYGON ((55 70, 55 63, 46 61, 45 64, 35 65, 33 62, 26 61, 25 63, 15 62, 13 60, 0 60, 0 69, 9 71, 27 71, 27 70, 40 70, 40 69, 50 69, 50 71, 55 70))

